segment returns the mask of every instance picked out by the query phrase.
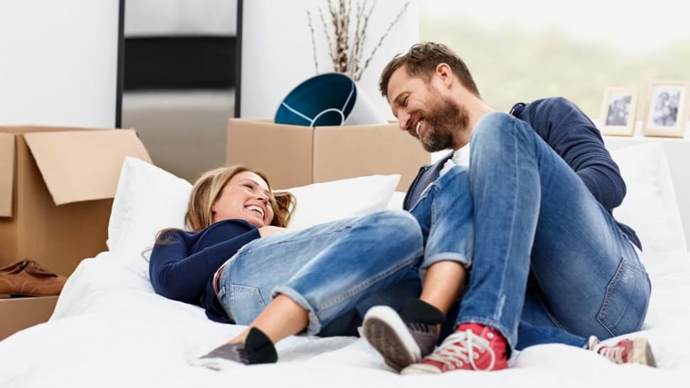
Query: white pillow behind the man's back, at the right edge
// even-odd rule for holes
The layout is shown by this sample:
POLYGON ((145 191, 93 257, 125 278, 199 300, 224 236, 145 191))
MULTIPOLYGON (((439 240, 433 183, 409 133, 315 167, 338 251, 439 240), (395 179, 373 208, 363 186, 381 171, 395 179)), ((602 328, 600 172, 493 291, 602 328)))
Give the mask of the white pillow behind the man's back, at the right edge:
POLYGON ((635 229, 647 252, 687 250, 664 145, 642 143, 610 152, 628 187, 615 219, 635 229))

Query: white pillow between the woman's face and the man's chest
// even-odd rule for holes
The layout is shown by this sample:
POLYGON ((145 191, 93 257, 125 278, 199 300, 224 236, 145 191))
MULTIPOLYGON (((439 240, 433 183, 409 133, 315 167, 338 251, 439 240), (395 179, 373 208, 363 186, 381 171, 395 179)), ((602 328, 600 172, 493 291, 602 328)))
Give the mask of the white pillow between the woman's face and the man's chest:
POLYGON ((288 228, 303 229, 385 209, 398 181, 399 174, 369 175, 276 191, 291 192, 296 197, 297 208, 288 228))

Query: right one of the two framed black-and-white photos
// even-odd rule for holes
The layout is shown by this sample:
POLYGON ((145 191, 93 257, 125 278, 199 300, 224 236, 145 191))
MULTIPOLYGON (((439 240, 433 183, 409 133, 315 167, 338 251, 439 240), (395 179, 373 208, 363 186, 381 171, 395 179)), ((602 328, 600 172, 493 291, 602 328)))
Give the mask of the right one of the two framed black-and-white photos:
POLYGON ((688 87, 684 81, 650 82, 642 135, 684 137, 690 113, 688 87))

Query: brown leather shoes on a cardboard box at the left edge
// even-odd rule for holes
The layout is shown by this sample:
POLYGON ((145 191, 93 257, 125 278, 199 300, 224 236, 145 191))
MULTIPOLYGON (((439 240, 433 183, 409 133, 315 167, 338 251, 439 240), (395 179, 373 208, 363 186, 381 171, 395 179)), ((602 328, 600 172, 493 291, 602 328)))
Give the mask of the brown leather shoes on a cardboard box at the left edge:
POLYGON ((0 268, 0 294, 59 295, 67 277, 55 275, 33 260, 22 260, 0 268))

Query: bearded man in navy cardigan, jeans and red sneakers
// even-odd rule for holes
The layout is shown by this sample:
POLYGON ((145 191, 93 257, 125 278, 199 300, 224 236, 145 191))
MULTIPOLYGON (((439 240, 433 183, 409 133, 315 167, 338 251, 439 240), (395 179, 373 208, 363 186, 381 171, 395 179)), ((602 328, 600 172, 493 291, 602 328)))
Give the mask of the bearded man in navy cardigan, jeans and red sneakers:
MULTIPOLYGON (((447 231, 445 238, 474 239, 455 332, 435 350, 420 336, 437 336, 439 320, 427 320, 429 309, 368 311, 364 333, 384 360, 403 374, 500 370, 513 349, 565 343, 653 366, 644 338, 598 343, 640 330, 650 281, 637 255, 640 240, 611 212, 625 183, 586 115, 562 98, 496 112, 461 58, 435 43, 393 58, 379 87, 401 130, 429 152, 453 150, 422 167, 405 209, 414 211, 447 171, 469 169, 473 234, 447 231)), ((434 284, 427 277, 424 286, 434 284)), ((449 311, 429 308, 436 316, 449 311)))

